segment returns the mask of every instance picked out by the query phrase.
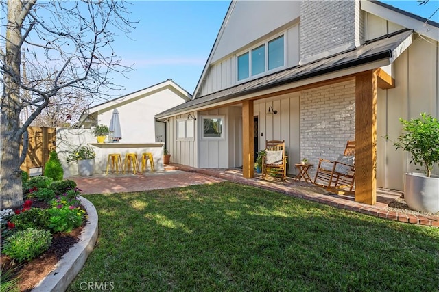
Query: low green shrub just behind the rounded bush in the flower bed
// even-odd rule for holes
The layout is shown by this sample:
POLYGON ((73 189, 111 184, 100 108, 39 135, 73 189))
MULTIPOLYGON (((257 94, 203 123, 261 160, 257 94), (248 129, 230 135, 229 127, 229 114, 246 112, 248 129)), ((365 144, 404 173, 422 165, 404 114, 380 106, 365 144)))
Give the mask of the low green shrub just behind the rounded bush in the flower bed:
POLYGON ((28 228, 49 230, 49 213, 47 209, 31 208, 14 215, 10 222, 15 224, 17 230, 28 228))

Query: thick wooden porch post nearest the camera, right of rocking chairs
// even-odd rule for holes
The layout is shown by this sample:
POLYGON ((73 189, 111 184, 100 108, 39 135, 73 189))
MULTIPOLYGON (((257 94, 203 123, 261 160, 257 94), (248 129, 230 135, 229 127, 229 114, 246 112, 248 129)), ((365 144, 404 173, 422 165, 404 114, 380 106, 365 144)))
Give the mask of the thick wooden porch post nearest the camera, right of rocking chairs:
POLYGON ((355 202, 377 202, 377 76, 355 77, 355 202))

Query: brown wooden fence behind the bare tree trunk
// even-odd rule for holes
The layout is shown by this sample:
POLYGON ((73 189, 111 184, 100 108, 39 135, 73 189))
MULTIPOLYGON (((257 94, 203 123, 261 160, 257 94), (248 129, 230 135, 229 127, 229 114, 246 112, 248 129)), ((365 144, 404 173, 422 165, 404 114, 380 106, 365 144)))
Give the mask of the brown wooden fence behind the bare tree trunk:
MULTIPOLYGON (((43 175, 51 150, 56 148, 56 129, 48 127, 29 127, 29 148, 21 170, 31 176, 43 175)), ((20 152, 23 147, 21 144, 20 152)))

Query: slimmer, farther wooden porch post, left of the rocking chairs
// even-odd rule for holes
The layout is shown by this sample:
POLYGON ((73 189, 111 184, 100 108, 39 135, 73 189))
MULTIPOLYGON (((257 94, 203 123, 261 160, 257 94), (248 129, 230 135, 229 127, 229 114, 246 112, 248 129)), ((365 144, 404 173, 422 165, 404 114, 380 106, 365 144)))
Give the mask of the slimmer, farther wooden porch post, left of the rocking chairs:
POLYGON ((254 129, 253 101, 242 103, 242 175, 244 178, 254 176, 254 129))

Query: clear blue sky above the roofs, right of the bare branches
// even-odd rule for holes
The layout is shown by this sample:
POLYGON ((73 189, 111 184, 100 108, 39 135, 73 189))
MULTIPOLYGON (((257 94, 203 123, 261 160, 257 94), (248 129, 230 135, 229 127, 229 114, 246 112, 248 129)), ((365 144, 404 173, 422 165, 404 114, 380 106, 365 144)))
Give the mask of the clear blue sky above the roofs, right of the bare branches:
MULTIPOLYGON (((429 18, 439 0, 426 5, 417 1, 382 1, 429 18)), ((135 70, 117 76, 115 83, 130 94, 172 79, 190 94, 195 90, 230 1, 128 1, 131 21, 139 21, 129 35, 116 40, 115 50, 123 64, 135 70)), ((439 12, 431 17, 439 22, 439 12)))

